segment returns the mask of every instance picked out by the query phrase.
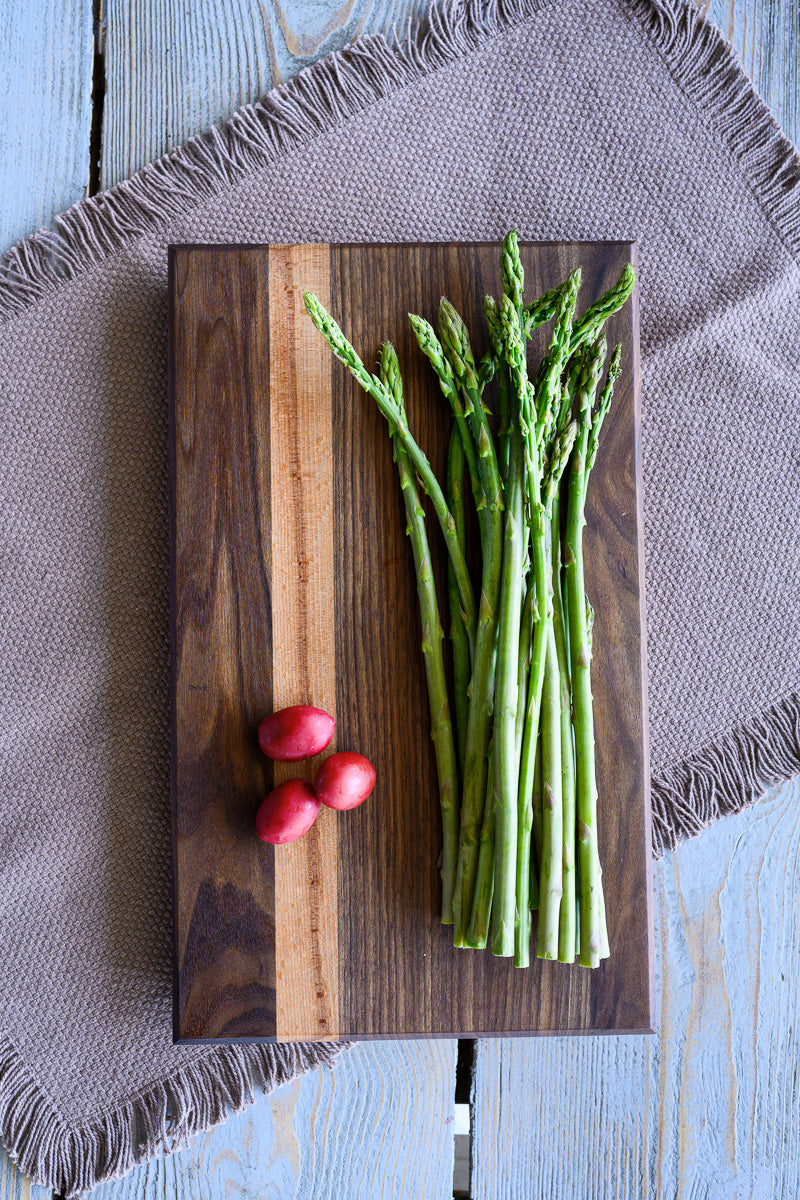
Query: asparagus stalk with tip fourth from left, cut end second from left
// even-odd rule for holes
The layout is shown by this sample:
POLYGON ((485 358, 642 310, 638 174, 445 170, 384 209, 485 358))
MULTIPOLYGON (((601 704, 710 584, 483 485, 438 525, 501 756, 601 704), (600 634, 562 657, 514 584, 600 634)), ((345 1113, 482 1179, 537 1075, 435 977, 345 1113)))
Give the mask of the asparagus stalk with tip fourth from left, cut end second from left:
POLYGON ((469 946, 494 708, 497 616, 503 564, 503 486, 469 335, 456 310, 444 299, 439 307, 439 334, 445 356, 461 390, 470 432, 477 445, 477 469, 486 499, 486 508, 481 512, 483 528, 481 604, 475 630, 461 838, 453 895, 453 946, 469 946))

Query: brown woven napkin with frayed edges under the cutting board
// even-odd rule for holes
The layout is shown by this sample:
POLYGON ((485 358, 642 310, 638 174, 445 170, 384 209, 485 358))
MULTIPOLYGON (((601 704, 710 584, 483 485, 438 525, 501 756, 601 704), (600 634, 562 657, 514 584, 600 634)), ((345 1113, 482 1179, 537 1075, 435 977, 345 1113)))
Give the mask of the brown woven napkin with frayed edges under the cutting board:
POLYGON ((469 0, 11 253, 0 1112, 26 1171, 89 1188, 327 1054, 170 1044, 167 242, 638 240, 660 850, 800 769, 799 178, 682 0, 469 0))

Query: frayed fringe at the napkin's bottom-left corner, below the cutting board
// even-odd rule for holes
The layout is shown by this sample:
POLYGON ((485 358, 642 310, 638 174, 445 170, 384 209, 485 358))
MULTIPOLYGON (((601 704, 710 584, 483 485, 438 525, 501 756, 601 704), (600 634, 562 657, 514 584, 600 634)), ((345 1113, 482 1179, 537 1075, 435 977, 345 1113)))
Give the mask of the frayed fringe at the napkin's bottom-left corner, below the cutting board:
POLYGON ((35 1181, 80 1195, 119 1178, 158 1151, 173 1152, 196 1134, 252 1104, 257 1088, 272 1091, 313 1067, 329 1063, 331 1043, 225 1048, 199 1058, 142 1096, 70 1126, 30 1079, 16 1046, 0 1040, 1 1140, 35 1181))

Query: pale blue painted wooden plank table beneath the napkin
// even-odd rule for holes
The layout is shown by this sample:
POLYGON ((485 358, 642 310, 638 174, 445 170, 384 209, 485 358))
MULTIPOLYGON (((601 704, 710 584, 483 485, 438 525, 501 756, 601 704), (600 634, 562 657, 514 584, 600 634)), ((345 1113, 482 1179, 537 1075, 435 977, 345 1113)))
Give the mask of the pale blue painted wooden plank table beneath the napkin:
MULTIPOLYGON (((0 0, 0 248, 326 50, 422 8, 0 0)), ((796 139, 798 0, 705 8, 796 139)), ((468 1110, 455 1043, 361 1044, 91 1195, 445 1200, 456 1158, 456 1186, 475 1200, 798 1196, 799 858, 795 780, 656 864, 657 1038, 481 1040, 458 1084, 468 1110)), ((0 1200, 12 1198, 50 1194, 0 1151, 0 1200)))

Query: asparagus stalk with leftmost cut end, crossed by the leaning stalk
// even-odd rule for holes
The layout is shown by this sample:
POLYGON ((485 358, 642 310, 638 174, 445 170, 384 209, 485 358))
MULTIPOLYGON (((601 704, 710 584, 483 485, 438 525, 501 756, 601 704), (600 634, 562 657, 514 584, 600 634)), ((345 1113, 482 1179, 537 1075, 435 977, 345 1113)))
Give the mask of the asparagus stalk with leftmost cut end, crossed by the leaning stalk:
MULTIPOLYGON (((403 383, 397 354, 391 342, 384 342, 380 353, 380 379, 398 409, 404 409, 403 383)), ((405 505, 405 532, 411 542, 416 589, 422 623, 422 656, 431 704, 431 737, 439 776, 439 805, 441 808, 441 924, 452 924, 452 894, 456 882, 456 857, 458 853, 458 769, 453 743, 447 679, 441 648, 444 634, 439 620, 439 604, 431 565, 431 551, 425 527, 425 510, 411 468, 409 455, 398 437, 392 434, 395 461, 399 472, 403 503, 405 505)))

